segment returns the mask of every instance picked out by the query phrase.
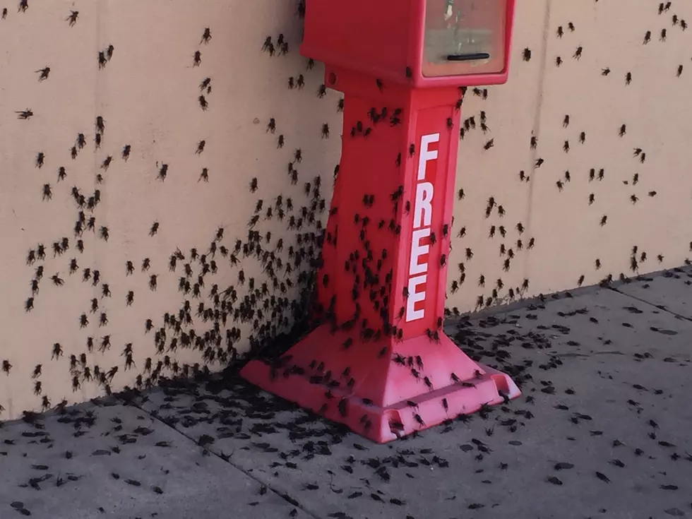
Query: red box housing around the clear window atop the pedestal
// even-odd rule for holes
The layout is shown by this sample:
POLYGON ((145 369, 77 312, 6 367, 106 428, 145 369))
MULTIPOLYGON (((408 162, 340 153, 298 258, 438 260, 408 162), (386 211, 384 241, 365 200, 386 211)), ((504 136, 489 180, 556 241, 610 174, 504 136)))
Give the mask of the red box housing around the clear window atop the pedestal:
POLYGON ((331 66, 365 73, 388 83, 414 88, 496 85, 505 83, 511 50, 515 0, 454 0, 467 11, 464 25, 494 30, 501 42, 503 66, 479 68, 480 73, 459 75, 469 68, 448 63, 434 67, 438 76, 423 76, 423 45, 426 11, 431 20, 444 20, 447 0, 308 0, 301 53, 331 66), (480 2, 480 3, 479 3, 480 2), (429 6, 428 6, 429 4, 429 6), (466 7, 465 7, 466 6, 466 7), (470 9, 471 6, 477 8, 470 9), (479 8, 478 6, 488 6, 479 8), (503 16, 493 13, 503 11, 503 16), (489 14, 490 13, 490 14, 489 14), (439 16, 441 15, 441 16, 439 16), (500 19, 502 18, 502 19, 500 19), (499 72, 489 72, 493 70, 499 72))

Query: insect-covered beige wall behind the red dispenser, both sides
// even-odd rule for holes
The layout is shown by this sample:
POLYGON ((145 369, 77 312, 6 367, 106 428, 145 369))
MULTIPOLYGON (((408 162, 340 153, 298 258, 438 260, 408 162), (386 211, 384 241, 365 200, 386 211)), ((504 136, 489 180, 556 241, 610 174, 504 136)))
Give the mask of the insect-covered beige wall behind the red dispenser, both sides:
MULTIPOLYGON (((692 255, 692 11, 636 4, 518 3, 508 88, 465 90, 451 314, 692 255)), ((304 316, 343 109, 305 8, 2 8, 0 417, 220 369, 304 316)))

